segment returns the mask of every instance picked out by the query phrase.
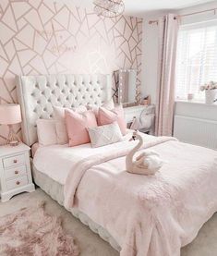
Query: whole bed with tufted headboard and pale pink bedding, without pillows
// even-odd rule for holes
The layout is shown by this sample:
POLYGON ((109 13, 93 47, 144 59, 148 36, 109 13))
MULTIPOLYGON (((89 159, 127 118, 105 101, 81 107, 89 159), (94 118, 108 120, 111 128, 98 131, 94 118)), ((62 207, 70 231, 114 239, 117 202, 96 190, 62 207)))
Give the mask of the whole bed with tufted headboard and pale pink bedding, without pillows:
MULTIPOLYGON (((53 105, 101 105, 112 89, 108 75, 51 75, 19 77, 17 91, 23 140, 32 146, 36 120, 52 118, 53 105)), ((142 135, 144 149, 159 152, 165 164, 156 176, 141 177, 125 171, 130 136, 100 150, 90 144, 39 148, 34 181, 121 255, 180 255, 217 211, 217 152, 142 135)))

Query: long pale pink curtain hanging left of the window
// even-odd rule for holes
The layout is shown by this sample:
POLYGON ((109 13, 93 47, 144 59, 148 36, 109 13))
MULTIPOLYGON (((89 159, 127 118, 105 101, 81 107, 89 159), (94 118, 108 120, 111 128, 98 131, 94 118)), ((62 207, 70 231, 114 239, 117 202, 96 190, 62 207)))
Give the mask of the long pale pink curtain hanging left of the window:
POLYGON ((175 106, 175 59, 179 21, 168 14, 158 21, 159 70, 156 104, 155 133, 171 136, 175 106))

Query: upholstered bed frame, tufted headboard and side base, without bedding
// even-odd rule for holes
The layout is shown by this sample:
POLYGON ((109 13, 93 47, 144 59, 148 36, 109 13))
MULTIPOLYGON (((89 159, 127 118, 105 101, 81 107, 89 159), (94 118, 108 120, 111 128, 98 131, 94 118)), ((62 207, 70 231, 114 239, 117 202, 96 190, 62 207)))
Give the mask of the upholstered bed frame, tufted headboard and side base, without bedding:
MULTIPOLYGON (((52 118, 53 105, 69 108, 77 107, 80 104, 102 105, 112 97, 110 75, 18 76, 16 83, 18 103, 23 116, 21 127, 23 141, 31 147, 32 154, 39 147, 36 121, 38 118, 52 118), (68 94, 72 94, 72 97, 68 97, 68 94)), ((64 186, 37 170, 32 159, 31 170, 35 184, 63 205, 64 186)), ((78 209, 71 209, 70 212, 83 224, 89 226, 93 232, 99 234, 102 239, 109 242, 115 250, 120 250, 120 246, 109 232, 94 223, 85 213, 78 209)))

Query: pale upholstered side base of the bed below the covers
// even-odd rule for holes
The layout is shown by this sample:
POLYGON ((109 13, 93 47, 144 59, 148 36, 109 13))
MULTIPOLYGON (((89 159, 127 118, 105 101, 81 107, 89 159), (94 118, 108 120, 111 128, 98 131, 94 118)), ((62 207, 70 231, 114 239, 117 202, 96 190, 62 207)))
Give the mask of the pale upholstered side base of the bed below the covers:
MULTIPOLYGON (((45 193, 47 193, 54 201, 57 201, 60 205, 64 205, 64 186, 54 181, 51 177, 46 176, 42 172, 38 171, 31 161, 31 170, 34 183, 39 186, 45 193)), ((117 251, 120 251, 121 248, 115 241, 109 232, 104 229, 102 226, 93 222, 90 217, 85 213, 81 213, 76 208, 70 210, 75 217, 77 217, 84 225, 89 226, 90 229, 98 234, 103 240, 110 243, 110 245, 117 251)))

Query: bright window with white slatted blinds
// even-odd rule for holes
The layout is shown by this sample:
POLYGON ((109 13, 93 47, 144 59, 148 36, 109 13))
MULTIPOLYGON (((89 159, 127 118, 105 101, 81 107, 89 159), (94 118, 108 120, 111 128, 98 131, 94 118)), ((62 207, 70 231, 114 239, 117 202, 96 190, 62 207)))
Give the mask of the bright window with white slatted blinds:
POLYGON ((204 99, 199 87, 217 81, 217 21, 181 26, 176 59, 175 98, 187 99, 194 93, 204 99))

